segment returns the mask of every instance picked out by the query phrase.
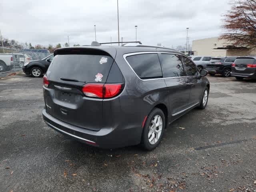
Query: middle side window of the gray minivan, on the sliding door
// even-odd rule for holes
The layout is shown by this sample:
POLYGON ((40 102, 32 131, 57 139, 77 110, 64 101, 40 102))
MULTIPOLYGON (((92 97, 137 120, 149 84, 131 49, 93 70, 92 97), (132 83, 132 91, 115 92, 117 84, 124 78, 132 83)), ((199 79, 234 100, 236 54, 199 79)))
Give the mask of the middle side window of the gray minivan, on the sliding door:
POLYGON ((186 76, 180 55, 160 54, 163 77, 180 77, 186 76))

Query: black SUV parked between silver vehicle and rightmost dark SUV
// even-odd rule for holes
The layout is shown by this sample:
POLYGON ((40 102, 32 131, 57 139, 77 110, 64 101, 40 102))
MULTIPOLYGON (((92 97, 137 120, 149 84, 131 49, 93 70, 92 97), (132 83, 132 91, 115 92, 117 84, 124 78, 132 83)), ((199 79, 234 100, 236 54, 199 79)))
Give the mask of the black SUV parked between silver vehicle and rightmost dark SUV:
POLYGON ((238 58, 238 56, 216 57, 212 58, 209 64, 206 65, 206 70, 212 76, 221 74, 223 77, 229 77, 231 72, 231 65, 238 58))

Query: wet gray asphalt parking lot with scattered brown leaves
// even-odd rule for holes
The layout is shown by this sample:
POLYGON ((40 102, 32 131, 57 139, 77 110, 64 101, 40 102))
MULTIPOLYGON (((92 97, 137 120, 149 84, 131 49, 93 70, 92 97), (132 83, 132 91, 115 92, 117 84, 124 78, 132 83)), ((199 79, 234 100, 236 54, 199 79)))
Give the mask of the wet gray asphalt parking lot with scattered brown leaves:
POLYGON ((70 140, 42 119, 42 78, 0 79, 0 191, 256 192, 256 82, 208 79, 207 108, 172 123, 152 152, 70 140))

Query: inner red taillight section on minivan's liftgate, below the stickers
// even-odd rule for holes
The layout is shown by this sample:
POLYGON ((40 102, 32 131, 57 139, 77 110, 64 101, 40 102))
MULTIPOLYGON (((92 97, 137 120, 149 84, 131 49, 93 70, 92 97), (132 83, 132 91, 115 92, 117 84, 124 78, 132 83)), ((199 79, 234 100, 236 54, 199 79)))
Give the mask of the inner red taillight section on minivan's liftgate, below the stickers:
POLYGON ((83 87, 83 92, 88 97, 103 97, 103 85, 102 83, 88 83, 83 87))

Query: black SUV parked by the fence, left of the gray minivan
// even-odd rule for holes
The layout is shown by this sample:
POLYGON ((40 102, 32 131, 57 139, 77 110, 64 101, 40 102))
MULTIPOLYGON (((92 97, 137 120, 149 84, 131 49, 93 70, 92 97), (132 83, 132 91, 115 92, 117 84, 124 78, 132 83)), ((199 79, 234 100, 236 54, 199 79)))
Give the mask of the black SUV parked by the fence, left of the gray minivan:
POLYGON ((31 75, 32 77, 41 77, 46 73, 48 67, 50 66, 54 55, 50 54, 42 60, 33 60, 24 63, 22 70, 25 74, 31 75))

